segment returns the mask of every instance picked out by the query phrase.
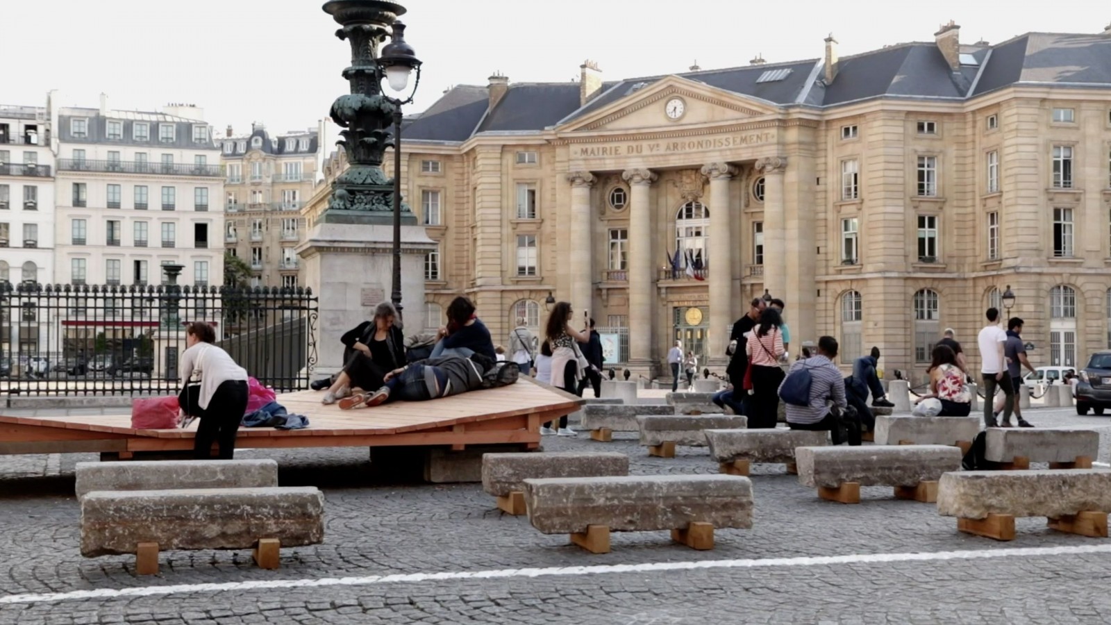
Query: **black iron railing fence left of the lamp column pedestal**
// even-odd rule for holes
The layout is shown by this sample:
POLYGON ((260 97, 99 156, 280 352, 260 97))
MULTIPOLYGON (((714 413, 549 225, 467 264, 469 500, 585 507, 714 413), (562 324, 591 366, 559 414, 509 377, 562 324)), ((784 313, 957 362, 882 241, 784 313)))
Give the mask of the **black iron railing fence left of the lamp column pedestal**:
POLYGON ((184 325, 278 391, 306 388, 317 363, 308 289, 0 282, 0 393, 166 395, 181 386, 184 325))

